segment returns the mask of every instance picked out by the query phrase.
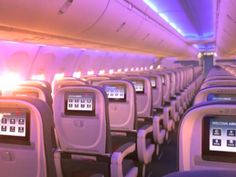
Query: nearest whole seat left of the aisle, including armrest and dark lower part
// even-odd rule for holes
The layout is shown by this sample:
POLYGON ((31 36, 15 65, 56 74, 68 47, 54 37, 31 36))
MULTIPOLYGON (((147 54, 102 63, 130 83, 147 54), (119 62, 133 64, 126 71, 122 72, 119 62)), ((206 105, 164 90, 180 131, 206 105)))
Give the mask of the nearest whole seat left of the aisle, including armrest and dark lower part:
POLYGON ((60 147, 55 153, 59 177, 138 175, 138 168, 128 158, 135 152, 135 143, 119 147, 112 144, 108 102, 102 88, 60 88, 55 93, 53 109, 60 147))

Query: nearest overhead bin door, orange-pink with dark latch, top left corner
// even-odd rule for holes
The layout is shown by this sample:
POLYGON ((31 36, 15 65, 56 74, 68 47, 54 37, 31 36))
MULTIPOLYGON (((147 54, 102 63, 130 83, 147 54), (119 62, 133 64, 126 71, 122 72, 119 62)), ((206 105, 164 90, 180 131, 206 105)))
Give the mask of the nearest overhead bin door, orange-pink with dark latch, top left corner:
POLYGON ((0 25, 73 36, 97 22, 109 0, 1 0, 0 25))

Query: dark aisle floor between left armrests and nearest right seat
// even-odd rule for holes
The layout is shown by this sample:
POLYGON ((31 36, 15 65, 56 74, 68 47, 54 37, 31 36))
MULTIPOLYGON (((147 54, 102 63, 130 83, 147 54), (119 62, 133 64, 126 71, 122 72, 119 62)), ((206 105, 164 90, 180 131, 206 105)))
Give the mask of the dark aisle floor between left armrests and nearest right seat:
POLYGON ((178 171, 177 131, 170 134, 169 141, 162 145, 160 155, 152 160, 147 171, 148 177, 161 177, 178 171))

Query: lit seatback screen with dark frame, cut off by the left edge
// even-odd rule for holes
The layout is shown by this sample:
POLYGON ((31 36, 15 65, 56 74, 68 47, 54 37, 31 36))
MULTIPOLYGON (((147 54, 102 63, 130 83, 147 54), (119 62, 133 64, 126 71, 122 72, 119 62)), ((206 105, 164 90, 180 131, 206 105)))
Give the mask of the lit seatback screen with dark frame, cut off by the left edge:
POLYGON ((0 142, 30 144, 30 113, 24 109, 0 109, 0 142))

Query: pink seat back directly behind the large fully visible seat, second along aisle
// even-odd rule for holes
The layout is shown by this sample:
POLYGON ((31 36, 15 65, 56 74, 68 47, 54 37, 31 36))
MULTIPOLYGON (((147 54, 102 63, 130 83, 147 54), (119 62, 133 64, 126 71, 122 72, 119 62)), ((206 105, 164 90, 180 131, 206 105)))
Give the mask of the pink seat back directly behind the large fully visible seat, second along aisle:
POLYGON ((104 80, 103 87, 109 99, 109 119, 113 130, 136 129, 136 93, 128 80, 104 80))

